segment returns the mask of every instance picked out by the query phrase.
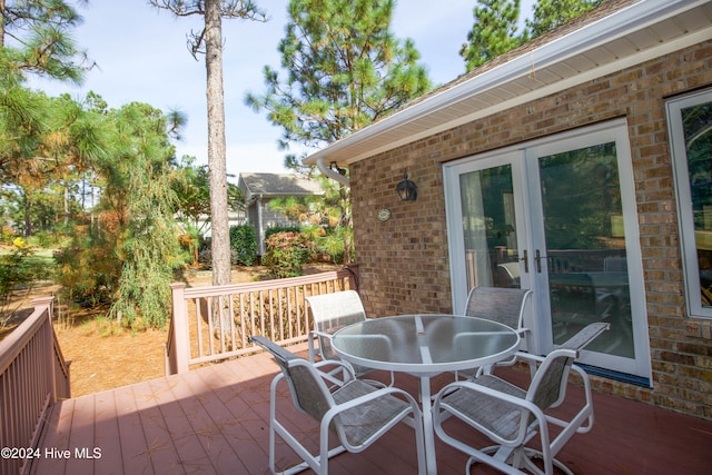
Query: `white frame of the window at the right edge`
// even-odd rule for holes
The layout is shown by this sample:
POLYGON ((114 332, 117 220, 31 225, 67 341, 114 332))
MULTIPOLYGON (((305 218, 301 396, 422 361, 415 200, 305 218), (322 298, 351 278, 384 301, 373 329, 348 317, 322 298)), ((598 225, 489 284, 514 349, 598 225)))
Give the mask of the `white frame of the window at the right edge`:
POLYGON ((695 241, 692 212, 688 152, 682 126, 682 109, 706 102, 712 103, 712 89, 705 89, 668 100, 665 102, 665 113, 668 118, 670 156, 678 205, 680 251, 682 254, 683 284, 688 314, 690 317, 712 319, 712 307, 704 307, 700 295, 700 265, 698 263, 698 245, 695 241))

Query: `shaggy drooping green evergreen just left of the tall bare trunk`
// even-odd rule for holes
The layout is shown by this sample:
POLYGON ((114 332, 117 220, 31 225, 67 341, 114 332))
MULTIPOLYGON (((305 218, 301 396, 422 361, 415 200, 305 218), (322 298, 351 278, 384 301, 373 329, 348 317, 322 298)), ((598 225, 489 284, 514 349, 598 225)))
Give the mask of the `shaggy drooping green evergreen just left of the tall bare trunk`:
POLYGON ((180 264, 170 126, 160 110, 145 103, 123 106, 111 117, 118 132, 116 155, 101 167, 107 181, 102 207, 115 217, 109 227, 120 268, 111 315, 135 327, 161 327, 169 313, 172 270, 180 264))

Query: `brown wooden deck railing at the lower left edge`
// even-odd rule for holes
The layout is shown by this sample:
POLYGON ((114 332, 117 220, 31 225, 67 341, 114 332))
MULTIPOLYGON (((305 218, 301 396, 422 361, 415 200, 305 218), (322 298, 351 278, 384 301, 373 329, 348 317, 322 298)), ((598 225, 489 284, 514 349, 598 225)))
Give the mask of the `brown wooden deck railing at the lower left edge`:
POLYGON ((68 398, 69 365, 52 328, 53 297, 32 300, 34 311, 0 342, 0 473, 23 473, 46 419, 68 398))

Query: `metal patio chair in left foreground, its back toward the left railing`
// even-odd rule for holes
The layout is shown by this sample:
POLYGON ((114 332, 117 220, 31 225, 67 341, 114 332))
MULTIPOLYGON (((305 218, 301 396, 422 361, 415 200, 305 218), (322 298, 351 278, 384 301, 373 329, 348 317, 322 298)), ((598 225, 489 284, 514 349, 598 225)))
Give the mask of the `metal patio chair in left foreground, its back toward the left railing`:
POLYGON ((269 395, 269 469, 273 474, 294 474, 307 468, 317 474, 327 474, 330 457, 345 451, 358 453, 366 449, 397 423, 405 422, 411 416, 415 427, 418 473, 425 473, 423 415, 409 394, 394 387, 375 387, 363 379, 356 379, 348 366, 344 366, 348 376, 343 386, 330 392, 320 369, 328 365, 340 365, 342 362, 310 363, 261 336, 250 337, 250 343, 269 352, 281 368, 281 373, 271 382, 269 395), (299 438, 277 420, 277 385, 283 379, 289 386, 294 406, 319 422, 318 455, 309 452, 299 438), (330 434, 338 437, 340 445, 329 451, 330 434), (284 472, 276 472, 277 436, 305 462, 284 472))

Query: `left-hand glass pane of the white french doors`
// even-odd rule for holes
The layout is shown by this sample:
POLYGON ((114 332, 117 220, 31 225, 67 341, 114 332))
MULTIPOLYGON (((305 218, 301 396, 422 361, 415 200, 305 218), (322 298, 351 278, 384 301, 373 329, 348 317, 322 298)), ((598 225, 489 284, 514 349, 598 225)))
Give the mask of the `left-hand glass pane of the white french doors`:
POLYGON ((467 289, 520 287, 512 166, 459 176, 467 289))

